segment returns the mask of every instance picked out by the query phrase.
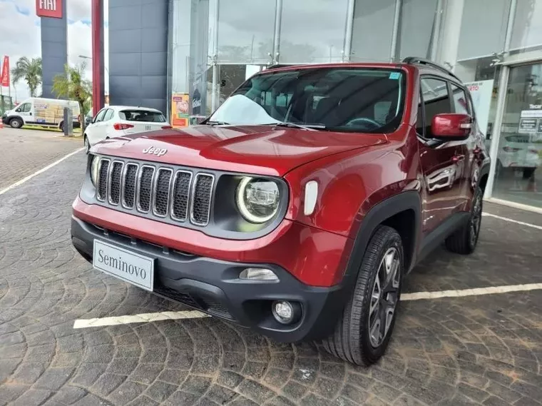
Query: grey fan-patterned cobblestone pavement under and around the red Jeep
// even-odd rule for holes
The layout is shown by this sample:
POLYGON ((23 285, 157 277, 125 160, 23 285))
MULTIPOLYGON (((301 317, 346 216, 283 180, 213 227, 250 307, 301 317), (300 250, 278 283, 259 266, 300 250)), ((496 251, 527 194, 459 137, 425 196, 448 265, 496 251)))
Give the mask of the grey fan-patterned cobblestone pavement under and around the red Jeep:
MULTIPOLYGON (((78 318, 183 310, 73 250, 83 166, 76 154, 0 196, 0 405, 541 405, 540 290, 404 302, 370 368, 216 318, 73 330, 78 318)), ((474 255, 439 250, 406 291, 542 282, 541 236, 484 218, 474 255)))

